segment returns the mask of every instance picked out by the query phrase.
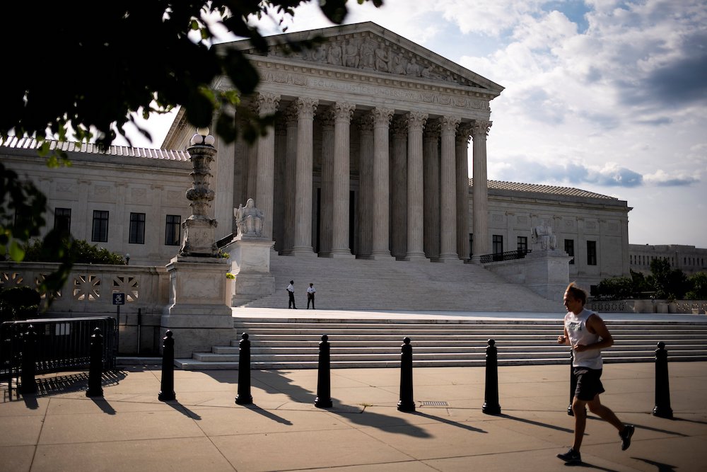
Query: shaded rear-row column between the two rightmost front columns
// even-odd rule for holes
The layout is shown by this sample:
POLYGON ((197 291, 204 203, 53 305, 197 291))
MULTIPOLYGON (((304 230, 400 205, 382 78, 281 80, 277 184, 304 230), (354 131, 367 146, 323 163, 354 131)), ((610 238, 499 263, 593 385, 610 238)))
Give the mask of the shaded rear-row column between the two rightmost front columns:
POLYGON ((469 260, 469 123, 457 128, 455 156, 457 160, 457 254, 469 260))

